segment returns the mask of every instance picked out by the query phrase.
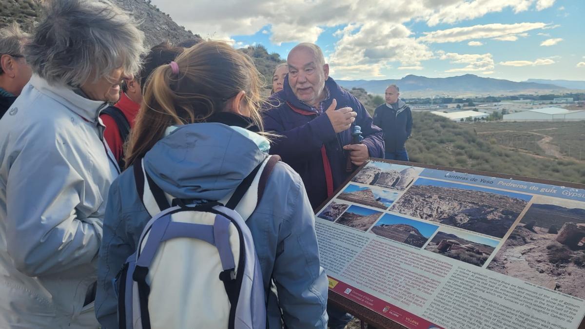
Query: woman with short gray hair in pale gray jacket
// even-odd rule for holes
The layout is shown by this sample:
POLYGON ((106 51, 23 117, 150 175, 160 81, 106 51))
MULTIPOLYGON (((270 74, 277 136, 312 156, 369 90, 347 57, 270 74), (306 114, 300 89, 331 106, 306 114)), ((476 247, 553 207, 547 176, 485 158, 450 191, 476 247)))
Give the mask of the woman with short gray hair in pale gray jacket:
POLYGON ((53 0, 25 47, 29 84, 0 120, 0 328, 97 328, 108 189, 99 111, 146 53, 107 0, 53 0))

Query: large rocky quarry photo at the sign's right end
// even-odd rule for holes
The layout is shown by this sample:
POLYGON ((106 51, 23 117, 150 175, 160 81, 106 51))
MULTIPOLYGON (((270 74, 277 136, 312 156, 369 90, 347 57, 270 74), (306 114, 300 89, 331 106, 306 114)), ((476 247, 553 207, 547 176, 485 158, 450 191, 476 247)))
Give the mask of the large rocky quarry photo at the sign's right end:
POLYGON ((585 203, 536 196, 487 268, 585 299, 585 203))

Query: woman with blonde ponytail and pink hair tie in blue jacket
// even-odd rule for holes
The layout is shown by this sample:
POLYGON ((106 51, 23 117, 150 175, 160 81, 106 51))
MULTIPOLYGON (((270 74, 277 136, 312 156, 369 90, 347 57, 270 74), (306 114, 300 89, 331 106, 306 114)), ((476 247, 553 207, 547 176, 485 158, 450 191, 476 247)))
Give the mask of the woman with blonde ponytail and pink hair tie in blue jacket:
MULTIPOLYGON (((260 88, 252 61, 228 44, 208 41, 185 50, 147 81, 126 164, 143 159, 154 183, 174 198, 222 200, 268 156, 260 88)), ((279 162, 263 195, 246 225, 260 260, 267 326, 282 328, 284 321, 287 328, 326 328, 328 281, 319 266, 314 215, 302 181, 279 162)), ((112 279, 136 250, 150 215, 133 170, 113 181, 108 200, 96 310, 102 326, 111 329, 118 328, 112 279)))

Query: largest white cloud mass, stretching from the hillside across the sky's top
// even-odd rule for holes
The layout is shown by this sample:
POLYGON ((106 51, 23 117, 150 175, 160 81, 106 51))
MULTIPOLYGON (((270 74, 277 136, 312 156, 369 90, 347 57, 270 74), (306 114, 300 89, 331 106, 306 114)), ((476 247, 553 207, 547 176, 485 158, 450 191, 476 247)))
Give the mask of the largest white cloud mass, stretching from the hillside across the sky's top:
MULTIPOLYGON (((378 77, 380 70, 397 62, 401 67, 422 67, 433 58, 428 43, 467 42, 519 36, 546 23, 476 25, 452 28, 419 37, 405 26, 425 22, 428 26, 479 18, 487 13, 512 10, 516 13, 547 8, 554 0, 152 0, 179 25, 204 38, 233 42, 231 36, 261 32, 273 44, 315 42, 328 29, 335 32, 332 67, 347 76, 378 77), (269 28, 264 28, 269 26, 269 28), (363 72, 363 74, 362 74, 363 72)), ((552 28, 552 27, 551 27, 552 28)), ((332 47, 333 48, 333 47, 332 47)))

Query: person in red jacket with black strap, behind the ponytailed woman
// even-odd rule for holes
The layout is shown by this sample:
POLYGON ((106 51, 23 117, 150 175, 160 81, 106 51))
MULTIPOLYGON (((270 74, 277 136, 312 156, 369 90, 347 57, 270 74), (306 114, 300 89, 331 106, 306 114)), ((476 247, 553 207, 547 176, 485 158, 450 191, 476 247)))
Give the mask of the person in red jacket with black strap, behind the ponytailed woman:
POLYGON ((115 105, 104 109, 99 114, 106 129, 104 139, 113 155, 118 161, 120 169, 125 169, 124 143, 128 138, 140 104, 142 104, 142 88, 147 78, 155 68, 173 61, 178 54, 182 53, 183 47, 174 47, 168 42, 163 42, 150 49, 149 54, 144 58, 144 65, 140 73, 133 79, 122 85, 122 93, 115 105))

